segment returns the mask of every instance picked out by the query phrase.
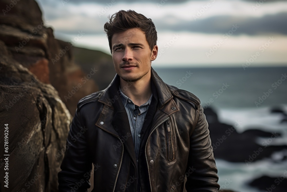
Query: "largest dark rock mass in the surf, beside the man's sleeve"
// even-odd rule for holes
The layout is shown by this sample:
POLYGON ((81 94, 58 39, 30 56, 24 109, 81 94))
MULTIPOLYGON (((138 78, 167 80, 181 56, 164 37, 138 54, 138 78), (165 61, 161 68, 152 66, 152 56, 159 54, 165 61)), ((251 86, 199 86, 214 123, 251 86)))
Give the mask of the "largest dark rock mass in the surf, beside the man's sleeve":
MULTIPOLYGON (((213 114, 213 110, 205 111, 209 111, 209 114, 212 114, 213 117, 217 117, 213 114), (210 111, 213 112, 211 113, 210 111)), ((280 133, 249 130, 240 134, 236 132, 238 123, 239 122, 232 126, 214 120, 211 122, 208 120, 215 158, 231 162, 245 162, 247 165, 250 165, 254 161, 266 157, 271 158, 274 152, 287 149, 286 145, 273 146, 274 139, 280 137, 280 133), (267 136, 268 138, 259 145, 256 143, 256 138, 259 136, 267 136)))

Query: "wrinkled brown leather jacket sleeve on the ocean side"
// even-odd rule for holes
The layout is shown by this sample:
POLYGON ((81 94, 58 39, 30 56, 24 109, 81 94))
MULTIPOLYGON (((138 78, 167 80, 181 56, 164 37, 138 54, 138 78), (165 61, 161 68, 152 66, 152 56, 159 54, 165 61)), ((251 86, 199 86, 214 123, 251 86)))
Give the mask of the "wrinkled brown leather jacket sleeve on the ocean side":
POLYGON ((187 168, 192 167, 192 174, 187 177, 185 188, 188 192, 218 192, 218 175, 213 149, 209 136, 208 123, 200 105, 198 118, 190 136, 190 148, 187 168))

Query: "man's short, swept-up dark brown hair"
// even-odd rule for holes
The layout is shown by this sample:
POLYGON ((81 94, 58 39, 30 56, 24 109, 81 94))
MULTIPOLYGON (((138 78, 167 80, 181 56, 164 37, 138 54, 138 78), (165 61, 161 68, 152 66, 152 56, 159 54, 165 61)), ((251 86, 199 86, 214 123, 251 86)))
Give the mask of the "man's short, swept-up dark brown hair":
POLYGON ((146 35, 146 40, 150 46, 150 50, 156 45, 158 39, 156 27, 151 19, 139 14, 133 10, 120 10, 109 18, 109 22, 104 24, 104 32, 107 34, 110 45, 110 52, 112 52, 112 37, 115 33, 126 31, 130 28, 140 28, 146 35))

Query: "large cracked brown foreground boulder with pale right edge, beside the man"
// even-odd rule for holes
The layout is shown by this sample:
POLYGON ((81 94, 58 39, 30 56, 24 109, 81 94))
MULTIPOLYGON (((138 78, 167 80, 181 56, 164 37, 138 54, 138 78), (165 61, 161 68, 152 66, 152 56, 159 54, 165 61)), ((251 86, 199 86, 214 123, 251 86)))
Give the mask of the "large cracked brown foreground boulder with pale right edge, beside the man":
MULTIPOLYGON (((1 146, 5 124, 9 131, 8 153, 1 150, 0 165, 9 154, 9 191, 57 191, 72 117, 55 88, 7 56, 2 41, 0 45, 1 146)), ((0 171, 0 191, 6 191, 4 174, 0 171)))

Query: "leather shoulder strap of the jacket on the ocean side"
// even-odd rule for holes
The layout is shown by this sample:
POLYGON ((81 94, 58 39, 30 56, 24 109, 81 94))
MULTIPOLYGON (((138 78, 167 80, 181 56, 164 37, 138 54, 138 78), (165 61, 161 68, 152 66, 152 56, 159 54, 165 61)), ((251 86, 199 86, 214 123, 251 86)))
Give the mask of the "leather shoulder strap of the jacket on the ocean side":
POLYGON ((186 90, 178 89, 175 86, 166 84, 172 95, 180 100, 189 102, 196 110, 200 108, 200 100, 197 96, 186 90))

